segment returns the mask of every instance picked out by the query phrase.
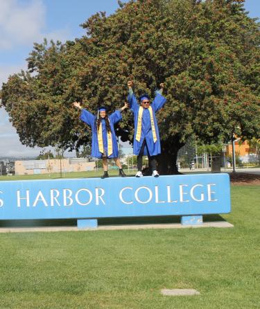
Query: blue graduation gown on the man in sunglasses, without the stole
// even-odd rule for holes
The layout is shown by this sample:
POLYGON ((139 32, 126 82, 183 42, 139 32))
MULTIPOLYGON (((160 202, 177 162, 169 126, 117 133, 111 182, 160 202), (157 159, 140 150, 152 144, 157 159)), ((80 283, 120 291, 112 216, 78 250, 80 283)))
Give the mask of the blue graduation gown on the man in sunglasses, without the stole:
MULTIPOLYGON (((134 112, 134 121, 135 121, 135 136, 137 134, 137 123, 138 123, 138 112, 140 105, 137 102, 137 98, 135 97, 135 94, 129 94, 128 95, 128 102, 130 105, 130 109, 132 109, 132 112, 134 112)), ((150 125, 150 112, 148 109, 144 108, 142 118, 141 118, 141 139, 140 141, 137 141, 134 136, 134 154, 139 154, 141 150, 141 145, 146 139, 146 145, 148 148, 148 152, 150 156, 155 156, 157 154, 161 153, 161 144, 159 141, 159 130, 157 125, 157 119, 155 117, 155 113, 161 109, 164 104, 166 103, 166 98, 159 94, 159 91, 156 91, 155 100, 150 104, 150 106, 153 109, 153 120, 155 123, 155 132, 157 136, 157 141, 154 143, 153 141, 153 132, 152 127, 150 125)), ((144 148, 144 155, 148 155, 146 147, 144 148)))

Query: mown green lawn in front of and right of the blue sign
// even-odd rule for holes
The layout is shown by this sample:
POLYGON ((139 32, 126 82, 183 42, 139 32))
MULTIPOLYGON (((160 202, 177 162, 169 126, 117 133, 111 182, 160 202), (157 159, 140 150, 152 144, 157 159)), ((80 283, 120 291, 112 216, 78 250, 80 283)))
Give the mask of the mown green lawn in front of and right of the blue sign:
POLYGON ((232 186, 228 229, 2 233, 0 308, 260 308, 259 193, 232 186))

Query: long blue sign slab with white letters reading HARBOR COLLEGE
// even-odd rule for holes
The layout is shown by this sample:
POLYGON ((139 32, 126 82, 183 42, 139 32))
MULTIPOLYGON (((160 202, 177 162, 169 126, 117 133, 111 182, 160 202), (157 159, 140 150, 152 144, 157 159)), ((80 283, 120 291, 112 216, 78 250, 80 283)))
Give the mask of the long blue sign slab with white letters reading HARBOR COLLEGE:
POLYGON ((0 182, 0 220, 229 212, 227 174, 0 182))

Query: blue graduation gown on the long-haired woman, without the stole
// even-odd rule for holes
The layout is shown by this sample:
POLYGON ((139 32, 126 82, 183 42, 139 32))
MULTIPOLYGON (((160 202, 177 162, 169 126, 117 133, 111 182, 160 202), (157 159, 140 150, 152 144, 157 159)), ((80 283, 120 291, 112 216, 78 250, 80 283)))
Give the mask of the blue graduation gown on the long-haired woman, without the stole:
MULTIPOLYGON (((114 132, 114 124, 121 121, 122 116, 121 112, 119 110, 116 110, 116 112, 110 114, 108 116, 110 120, 110 130, 112 134, 112 154, 108 158, 117 158, 119 157, 119 148, 117 146, 116 141, 116 134, 114 132)), ((82 109, 82 112, 80 114, 80 119, 87 123, 90 127, 92 127, 92 157, 96 158, 102 158, 103 153, 99 151, 98 149, 98 132, 96 127, 96 116, 94 114, 87 111, 87 109, 82 109)), ((105 150, 105 153, 107 154, 107 128, 105 127, 105 120, 101 120, 102 125, 102 136, 103 136, 103 147, 105 150)))

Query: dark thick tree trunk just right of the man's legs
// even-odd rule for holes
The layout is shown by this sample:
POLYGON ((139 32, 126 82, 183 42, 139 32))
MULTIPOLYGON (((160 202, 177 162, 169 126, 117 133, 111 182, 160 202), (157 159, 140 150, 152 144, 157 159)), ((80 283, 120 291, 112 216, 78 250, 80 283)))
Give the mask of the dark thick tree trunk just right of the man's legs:
MULTIPOLYGON (((176 139, 177 140, 177 139, 176 139)), ((177 170, 177 152, 182 148, 184 143, 179 141, 162 141, 162 152, 157 158, 158 171, 161 175, 181 174, 177 170)))

